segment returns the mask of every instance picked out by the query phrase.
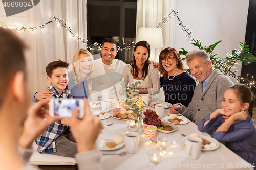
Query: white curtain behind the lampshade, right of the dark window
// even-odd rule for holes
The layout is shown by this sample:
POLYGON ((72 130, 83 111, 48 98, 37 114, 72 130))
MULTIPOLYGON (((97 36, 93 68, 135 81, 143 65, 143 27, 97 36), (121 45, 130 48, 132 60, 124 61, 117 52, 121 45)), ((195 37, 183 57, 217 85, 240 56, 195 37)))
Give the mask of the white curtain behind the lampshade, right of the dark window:
MULTIPOLYGON (((138 0, 137 3, 137 20, 136 35, 138 28, 151 27, 157 28, 158 23, 162 22, 164 16, 171 12, 171 8, 175 8, 176 0, 138 0)), ((175 9, 174 9, 175 10, 175 9)), ((168 18, 168 22, 164 24, 162 29, 164 48, 173 47, 174 45, 174 20, 168 18)), ((150 60, 158 62, 158 57, 164 48, 153 48, 151 50, 150 60)))

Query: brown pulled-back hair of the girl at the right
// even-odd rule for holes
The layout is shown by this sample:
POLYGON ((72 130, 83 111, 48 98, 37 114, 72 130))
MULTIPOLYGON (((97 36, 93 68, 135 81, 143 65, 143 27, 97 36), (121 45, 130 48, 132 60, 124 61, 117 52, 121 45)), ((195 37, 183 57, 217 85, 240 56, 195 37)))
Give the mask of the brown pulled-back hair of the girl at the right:
POLYGON ((228 89, 233 89, 234 93, 237 95, 237 97, 240 99, 241 103, 249 103, 248 112, 250 116, 252 117, 252 110, 254 107, 254 99, 255 96, 251 92, 250 88, 246 86, 245 84, 234 84, 230 86, 228 89))

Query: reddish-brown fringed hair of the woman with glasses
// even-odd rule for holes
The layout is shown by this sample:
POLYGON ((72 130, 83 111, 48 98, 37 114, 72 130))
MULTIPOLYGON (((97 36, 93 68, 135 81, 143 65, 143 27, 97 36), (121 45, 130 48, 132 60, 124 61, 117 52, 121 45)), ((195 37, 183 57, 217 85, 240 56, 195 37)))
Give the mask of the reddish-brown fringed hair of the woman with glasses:
MULTIPOLYGON (((161 62, 161 59, 167 58, 169 55, 173 54, 174 57, 177 59, 177 63, 178 63, 178 68, 180 68, 181 70, 186 70, 184 68, 183 62, 181 60, 180 54, 177 50, 175 50, 174 48, 165 48, 164 50, 161 51, 160 55, 159 55, 159 71, 160 74, 163 75, 164 79, 168 79, 168 72, 163 68, 163 64, 161 62)), ((166 62, 166 61, 165 61, 166 62)))

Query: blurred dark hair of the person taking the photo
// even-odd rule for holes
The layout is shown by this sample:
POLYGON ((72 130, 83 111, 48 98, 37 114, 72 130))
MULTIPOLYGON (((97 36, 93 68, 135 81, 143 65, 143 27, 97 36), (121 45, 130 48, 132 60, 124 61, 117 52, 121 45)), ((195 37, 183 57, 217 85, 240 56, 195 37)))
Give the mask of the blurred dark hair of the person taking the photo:
MULTIPOLYGON (((0 27, 0 89, 5 96, 11 79, 18 71, 25 74, 24 50, 26 45, 10 29, 0 27)), ((0 106, 4 98, 0 98, 0 106)))

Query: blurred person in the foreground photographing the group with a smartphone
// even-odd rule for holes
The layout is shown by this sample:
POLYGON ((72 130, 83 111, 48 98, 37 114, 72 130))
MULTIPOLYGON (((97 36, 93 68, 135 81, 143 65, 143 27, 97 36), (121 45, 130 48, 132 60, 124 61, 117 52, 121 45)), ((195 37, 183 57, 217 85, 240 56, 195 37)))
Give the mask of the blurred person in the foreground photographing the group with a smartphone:
MULTIPOLYGON (((0 28, 1 169, 36 169, 26 164, 33 152, 32 143, 46 127, 60 119, 58 116, 49 116, 49 100, 37 102, 29 108, 31 88, 26 75, 25 48, 24 43, 11 30, 0 28), (24 128, 19 137, 20 125, 24 125, 24 128)), ((102 124, 97 117, 91 116, 87 99, 84 100, 84 108, 83 119, 77 118, 78 111, 75 108, 70 120, 77 143, 78 169, 101 169, 95 141, 102 124)))

